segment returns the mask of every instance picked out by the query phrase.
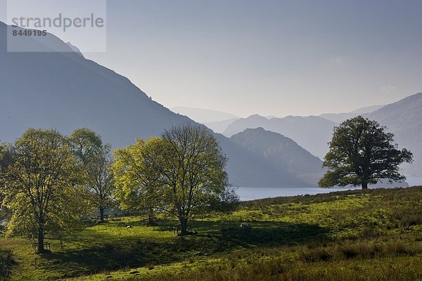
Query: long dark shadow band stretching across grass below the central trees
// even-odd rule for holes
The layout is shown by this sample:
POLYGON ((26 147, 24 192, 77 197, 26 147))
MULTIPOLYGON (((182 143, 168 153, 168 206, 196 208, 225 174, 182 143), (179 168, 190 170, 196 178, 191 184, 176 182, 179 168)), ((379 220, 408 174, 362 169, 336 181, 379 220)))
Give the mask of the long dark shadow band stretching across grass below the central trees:
MULTIPOLYGON (((106 270, 136 268, 185 261, 200 256, 229 252, 238 247, 274 247, 326 239, 326 230, 305 223, 249 222, 250 229, 240 222, 216 223, 193 221, 198 235, 188 235, 157 242, 140 238, 104 240, 84 249, 43 254, 49 269, 63 277, 98 273, 106 270)), ((172 223, 157 231, 170 231, 172 223)))

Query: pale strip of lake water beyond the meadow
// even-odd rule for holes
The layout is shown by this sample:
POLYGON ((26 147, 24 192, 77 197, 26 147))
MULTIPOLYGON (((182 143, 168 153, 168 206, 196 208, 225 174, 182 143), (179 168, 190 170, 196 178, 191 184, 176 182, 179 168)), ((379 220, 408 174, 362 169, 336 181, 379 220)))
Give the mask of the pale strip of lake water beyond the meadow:
MULTIPOLYGON (((422 178, 408 177, 409 186, 422 185, 422 178)), ((328 193, 343 190, 356 190, 357 188, 244 188, 236 190, 241 201, 262 199, 268 197, 296 196, 296 195, 314 195, 319 193, 328 193)))

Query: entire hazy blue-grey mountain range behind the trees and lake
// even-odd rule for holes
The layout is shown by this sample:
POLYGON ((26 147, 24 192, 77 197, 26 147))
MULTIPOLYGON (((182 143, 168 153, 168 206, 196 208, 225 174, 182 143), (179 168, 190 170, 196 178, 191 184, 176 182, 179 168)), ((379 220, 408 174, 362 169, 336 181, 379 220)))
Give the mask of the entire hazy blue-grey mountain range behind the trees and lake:
POLYGON ((321 159, 328 151, 334 126, 364 115, 388 126, 397 135, 398 144, 414 152, 415 162, 404 165, 404 172, 421 176, 421 93, 391 105, 369 105, 349 113, 320 116, 241 118, 188 107, 174 107, 172 112, 129 79, 84 58, 77 48, 70 48, 53 35, 46 38, 44 48, 62 48, 65 53, 7 53, 5 34, 6 25, 0 23, 4 66, 0 70, 0 93, 8 104, 0 112, 1 141, 14 141, 28 127, 56 128, 63 133, 88 127, 114 148, 122 148, 136 138, 158 136, 176 124, 199 122, 215 131, 229 157, 227 169, 234 185, 304 187, 316 186, 324 174, 321 159), (25 82, 21 77, 26 77, 25 82), (248 130, 257 128, 267 133, 252 134, 248 130), (275 136, 281 143, 290 140, 288 148, 274 147, 275 136))

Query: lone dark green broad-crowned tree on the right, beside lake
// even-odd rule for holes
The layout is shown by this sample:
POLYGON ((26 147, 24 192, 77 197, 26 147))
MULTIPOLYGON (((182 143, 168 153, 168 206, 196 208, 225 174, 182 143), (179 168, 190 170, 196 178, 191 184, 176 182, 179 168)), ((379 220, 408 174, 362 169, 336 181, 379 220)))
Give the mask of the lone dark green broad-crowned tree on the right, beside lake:
POLYGON ((397 149, 393 134, 375 121, 358 116, 347 119, 335 127, 330 150, 323 165, 328 171, 319 181, 319 186, 362 185, 377 183, 380 178, 402 180, 399 164, 411 162, 412 154, 403 148, 397 149))

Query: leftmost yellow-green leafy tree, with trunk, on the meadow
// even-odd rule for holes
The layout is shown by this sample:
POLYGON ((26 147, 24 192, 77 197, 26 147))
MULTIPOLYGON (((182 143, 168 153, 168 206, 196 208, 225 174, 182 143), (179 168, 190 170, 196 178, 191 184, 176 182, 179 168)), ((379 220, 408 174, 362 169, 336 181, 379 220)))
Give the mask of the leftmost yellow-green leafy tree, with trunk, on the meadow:
POLYGON ((77 226, 82 211, 74 188, 76 159, 57 131, 28 129, 12 150, 13 164, 2 176, 4 205, 12 211, 7 235, 37 237, 77 226))

